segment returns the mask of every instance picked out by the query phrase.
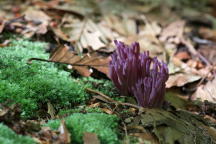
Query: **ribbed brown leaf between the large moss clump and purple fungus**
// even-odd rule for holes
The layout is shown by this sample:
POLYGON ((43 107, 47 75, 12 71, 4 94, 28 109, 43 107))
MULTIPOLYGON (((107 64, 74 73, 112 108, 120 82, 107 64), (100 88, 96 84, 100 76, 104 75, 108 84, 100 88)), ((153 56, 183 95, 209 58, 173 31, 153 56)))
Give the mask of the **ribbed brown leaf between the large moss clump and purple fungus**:
POLYGON ((61 62, 67 64, 75 64, 80 66, 73 66, 83 76, 90 76, 92 74, 90 68, 94 68, 99 72, 108 75, 108 63, 109 57, 102 56, 97 52, 90 54, 83 54, 82 56, 77 55, 73 51, 69 50, 67 46, 59 47, 50 57, 51 61, 61 62), (90 67, 90 68, 89 68, 90 67))

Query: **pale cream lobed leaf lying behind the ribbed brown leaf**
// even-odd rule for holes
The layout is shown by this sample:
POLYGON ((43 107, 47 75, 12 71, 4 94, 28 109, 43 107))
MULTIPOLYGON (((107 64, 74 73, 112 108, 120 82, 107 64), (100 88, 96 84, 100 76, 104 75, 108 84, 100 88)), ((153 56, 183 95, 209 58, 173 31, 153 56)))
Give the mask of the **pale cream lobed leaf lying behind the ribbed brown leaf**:
POLYGON ((99 30, 98 25, 91 19, 71 21, 70 17, 65 17, 65 22, 69 22, 70 24, 63 25, 61 31, 69 36, 67 41, 74 45, 77 52, 82 52, 83 49, 89 49, 89 51, 99 50, 104 48, 108 43, 107 38, 99 30))

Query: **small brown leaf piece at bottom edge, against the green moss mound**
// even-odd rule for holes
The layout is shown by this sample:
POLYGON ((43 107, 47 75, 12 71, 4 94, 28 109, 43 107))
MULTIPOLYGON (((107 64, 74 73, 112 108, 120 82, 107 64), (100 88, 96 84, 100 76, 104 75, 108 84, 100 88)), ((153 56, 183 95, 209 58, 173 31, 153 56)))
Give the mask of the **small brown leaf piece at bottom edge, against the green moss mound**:
POLYGON ((100 144, 100 140, 98 139, 95 133, 86 132, 83 135, 84 144, 100 144))

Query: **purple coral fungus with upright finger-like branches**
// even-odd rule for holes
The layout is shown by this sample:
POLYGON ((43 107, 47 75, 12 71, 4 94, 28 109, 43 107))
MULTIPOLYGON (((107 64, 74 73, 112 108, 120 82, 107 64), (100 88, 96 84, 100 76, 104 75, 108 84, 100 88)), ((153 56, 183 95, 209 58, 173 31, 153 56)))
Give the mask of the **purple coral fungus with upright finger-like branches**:
POLYGON ((126 45, 117 40, 110 61, 110 78, 122 95, 133 95, 139 106, 160 107, 164 101, 168 68, 149 52, 140 53, 139 43, 126 45))

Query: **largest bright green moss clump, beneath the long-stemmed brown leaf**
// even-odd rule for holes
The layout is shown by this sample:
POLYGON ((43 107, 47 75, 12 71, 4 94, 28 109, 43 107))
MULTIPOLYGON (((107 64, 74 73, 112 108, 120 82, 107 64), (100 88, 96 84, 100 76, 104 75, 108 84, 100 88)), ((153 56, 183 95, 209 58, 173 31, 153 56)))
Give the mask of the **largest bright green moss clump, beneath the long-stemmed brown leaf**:
POLYGON ((56 109, 71 108, 87 100, 86 85, 71 79, 54 64, 33 61, 32 57, 48 59, 45 43, 13 41, 0 48, 0 103, 11 100, 21 105, 24 116, 35 116, 47 102, 56 109))

